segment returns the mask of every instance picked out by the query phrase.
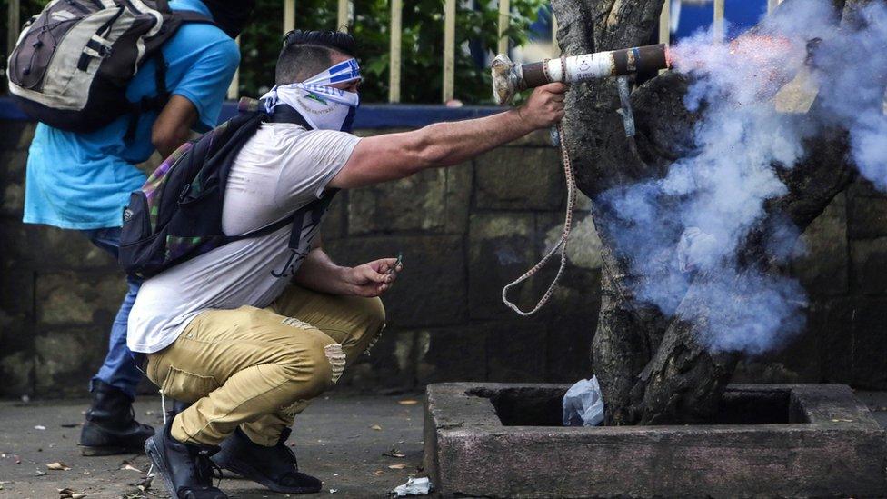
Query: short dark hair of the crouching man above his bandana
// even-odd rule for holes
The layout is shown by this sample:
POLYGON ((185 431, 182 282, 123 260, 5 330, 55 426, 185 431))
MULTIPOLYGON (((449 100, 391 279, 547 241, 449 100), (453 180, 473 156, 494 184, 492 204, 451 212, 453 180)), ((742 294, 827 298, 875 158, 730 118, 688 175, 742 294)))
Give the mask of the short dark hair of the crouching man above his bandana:
POLYGON ((303 81, 333 63, 333 53, 357 56, 354 36, 341 31, 293 30, 284 35, 284 48, 277 57, 276 85, 303 81))

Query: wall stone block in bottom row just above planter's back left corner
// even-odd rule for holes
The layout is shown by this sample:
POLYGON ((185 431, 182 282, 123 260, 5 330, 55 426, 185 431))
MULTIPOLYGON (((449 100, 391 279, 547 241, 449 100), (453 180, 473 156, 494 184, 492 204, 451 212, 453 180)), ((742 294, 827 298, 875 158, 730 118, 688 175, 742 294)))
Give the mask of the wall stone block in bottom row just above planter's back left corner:
POLYGON ((418 384, 485 380, 487 340, 482 333, 473 326, 417 331, 418 384))

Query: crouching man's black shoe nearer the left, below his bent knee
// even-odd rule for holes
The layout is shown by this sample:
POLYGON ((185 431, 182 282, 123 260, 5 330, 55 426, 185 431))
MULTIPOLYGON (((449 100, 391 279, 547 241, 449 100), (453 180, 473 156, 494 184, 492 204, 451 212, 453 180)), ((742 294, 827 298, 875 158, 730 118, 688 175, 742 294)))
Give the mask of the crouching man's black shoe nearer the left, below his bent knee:
POLYGON ((228 499, 213 486, 213 462, 210 456, 219 448, 211 445, 183 444, 169 433, 173 425, 170 417, 162 434, 155 434, 145 442, 145 454, 160 474, 166 490, 178 499, 228 499))

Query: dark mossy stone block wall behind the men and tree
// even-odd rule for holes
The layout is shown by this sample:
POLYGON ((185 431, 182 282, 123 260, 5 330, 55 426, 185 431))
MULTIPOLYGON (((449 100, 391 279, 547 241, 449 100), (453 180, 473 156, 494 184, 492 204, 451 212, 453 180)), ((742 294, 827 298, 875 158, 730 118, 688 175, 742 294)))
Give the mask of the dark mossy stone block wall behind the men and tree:
MULTIPOLYGON (((0 122, 0 130, 0 395, 80 395, 104 356, 123 275, 85 238, 20 222, 33 126, 0 122)), ((384 298, 383 339, 340 384, 403 391, 592 374, 601 260, 587 200, 552 303, 524 319, 500 299, 503 284, 560 235, 563 174, 547 141, 532 135, 466 165, 337 196, 324 223, 328 253, 360 264, 403 252, 405 266, 384 298)), ((742 364, 737 380, 887 388, 887 198, 853 185, 803 239, 794 272, 811 294, 807 332, 780 354, 742 364)), ((515 290, 524 307, 555 270, 515 290)))

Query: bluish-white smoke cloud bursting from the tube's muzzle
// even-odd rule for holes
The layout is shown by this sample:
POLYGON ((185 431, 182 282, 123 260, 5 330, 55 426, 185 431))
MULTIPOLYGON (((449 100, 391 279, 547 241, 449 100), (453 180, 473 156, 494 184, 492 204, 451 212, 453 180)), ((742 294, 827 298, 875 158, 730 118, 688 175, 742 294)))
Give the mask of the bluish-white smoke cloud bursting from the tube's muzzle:
POLYGON ((797 228, 766 216, 765 203, 787 192, 777 170, 804 159, 805 139, 848 130, 853 162, 887 190, 887 8, 870 5, 858 21, 839 30, 828 0, 792 2, 733 44, 713 44, 708 32, 673 46, 674 70, 693 81, 684 104, 702 115, 693 151, 663 178, 599 198, 614 214, 607 228, 617 253, 641 276, 634 294, 664 314, 707 317, 699 340, 711 351, 762 354, 804 326, 802 286, 741 250, 760 232, 762 260, 792 254, 797 228), (773 96, 803 70, 813 39, 822 39, 809 53, 824 112, 781 114, 773 96))

